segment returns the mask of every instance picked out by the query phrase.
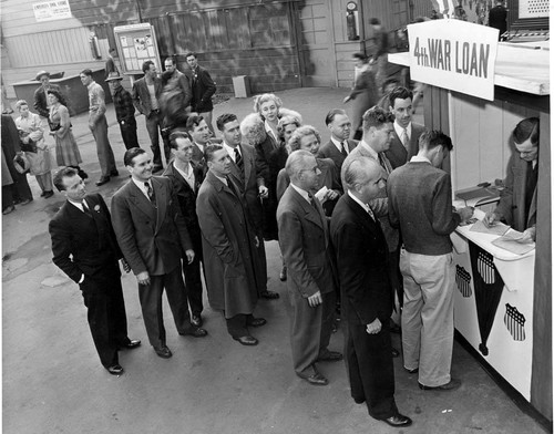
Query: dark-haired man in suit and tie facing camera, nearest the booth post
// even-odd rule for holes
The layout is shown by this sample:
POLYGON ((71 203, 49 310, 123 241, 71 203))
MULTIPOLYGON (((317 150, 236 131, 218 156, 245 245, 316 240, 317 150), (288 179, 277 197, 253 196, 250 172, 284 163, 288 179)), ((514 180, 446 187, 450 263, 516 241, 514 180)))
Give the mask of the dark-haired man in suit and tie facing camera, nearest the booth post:
POLYGON ((403 166, 411 157, 418 155, 419 137, 425 131, 424 125, 412 122, 412 91, 396 87, 389 95, 390 112, 394 115, 394 135, 387 151, 392 168, 403 166))

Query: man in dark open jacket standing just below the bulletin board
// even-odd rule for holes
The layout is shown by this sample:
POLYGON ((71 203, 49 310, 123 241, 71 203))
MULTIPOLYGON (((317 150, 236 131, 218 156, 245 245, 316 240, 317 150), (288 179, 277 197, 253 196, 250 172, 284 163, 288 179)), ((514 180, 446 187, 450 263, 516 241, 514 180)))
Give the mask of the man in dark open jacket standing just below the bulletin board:
MULTIPOLYGON (((160 151, 160 135, 162 134, 163 116, 160 111, 162 80, 157 78, 156 65, 151 60, 142 64, 144 78, 133 84, 133 104, 146 118, 146 130, 154 155, 154 173, 163 169, 162 152, 160 151)), ((170 148, 165 148, 165 157, 170 159, 170 148)))

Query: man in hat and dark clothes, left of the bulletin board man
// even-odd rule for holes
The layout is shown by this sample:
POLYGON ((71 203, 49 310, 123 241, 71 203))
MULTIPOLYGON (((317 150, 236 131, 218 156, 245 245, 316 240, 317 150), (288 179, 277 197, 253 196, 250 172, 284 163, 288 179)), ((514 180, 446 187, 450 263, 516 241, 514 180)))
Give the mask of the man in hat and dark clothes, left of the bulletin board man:
POLYGON ((105 81, 110 84, 112 91, 113 106, 115 117, 120 124, 121 136, 125 148, 141 147, 136 138, 135 106, 131 94, 121 85, 123 78, 117 71, 110 72, 105 81))

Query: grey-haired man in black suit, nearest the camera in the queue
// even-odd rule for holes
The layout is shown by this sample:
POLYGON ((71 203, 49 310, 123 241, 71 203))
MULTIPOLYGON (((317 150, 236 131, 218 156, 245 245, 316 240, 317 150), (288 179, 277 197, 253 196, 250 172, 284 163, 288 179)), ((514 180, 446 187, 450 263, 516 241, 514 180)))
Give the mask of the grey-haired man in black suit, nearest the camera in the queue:
POLYGON ((373 159, 357 156, 346 161, 342 170, 348 192, 335 208, 330 230, 347 323, 350 393, 356 403, 366 402, 372 417, 408 426, 412 421, 399 413, 394 402, 387 242, 368 206, 384 187, 382 169, 373 159))

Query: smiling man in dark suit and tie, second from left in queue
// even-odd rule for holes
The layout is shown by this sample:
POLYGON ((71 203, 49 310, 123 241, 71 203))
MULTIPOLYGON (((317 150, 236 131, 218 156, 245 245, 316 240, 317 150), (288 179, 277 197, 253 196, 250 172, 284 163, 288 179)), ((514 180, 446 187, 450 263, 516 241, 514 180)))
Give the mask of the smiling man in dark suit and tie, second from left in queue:
POLYGON ((157 355, 168 359, 173 354, 165 343, 164 288, 178 333, 194 338, 207 334, 191 323, 183 282, 182 252, 191 264, 194 250, 170 179, 152 176, 152 159, 140 147, 126 151, 123 162, 131 180, 112 198, 113 228, 138 281, 150 343, 157 355))

